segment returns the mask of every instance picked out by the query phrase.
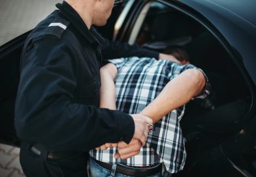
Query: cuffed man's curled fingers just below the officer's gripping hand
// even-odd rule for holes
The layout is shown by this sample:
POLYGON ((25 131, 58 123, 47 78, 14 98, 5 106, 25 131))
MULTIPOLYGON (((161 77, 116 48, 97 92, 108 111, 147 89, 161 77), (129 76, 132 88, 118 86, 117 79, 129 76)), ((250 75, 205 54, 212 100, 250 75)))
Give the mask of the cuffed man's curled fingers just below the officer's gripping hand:
POLYGON ((141 142, 138 139, 132 139, 129 144, 124 141, 118 143, 118 152, 114 155, 115 158, 127 159, 129 157, 136 156, 140 153, 141 142))

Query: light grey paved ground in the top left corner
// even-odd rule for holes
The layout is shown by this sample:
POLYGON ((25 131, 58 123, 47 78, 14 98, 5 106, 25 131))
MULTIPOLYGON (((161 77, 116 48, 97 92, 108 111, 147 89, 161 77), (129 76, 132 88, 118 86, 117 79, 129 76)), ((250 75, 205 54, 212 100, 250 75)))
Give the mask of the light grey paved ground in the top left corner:
POLYGON ((8 0, 0 5, 0 46, 33 29, 61 0, 8 0))

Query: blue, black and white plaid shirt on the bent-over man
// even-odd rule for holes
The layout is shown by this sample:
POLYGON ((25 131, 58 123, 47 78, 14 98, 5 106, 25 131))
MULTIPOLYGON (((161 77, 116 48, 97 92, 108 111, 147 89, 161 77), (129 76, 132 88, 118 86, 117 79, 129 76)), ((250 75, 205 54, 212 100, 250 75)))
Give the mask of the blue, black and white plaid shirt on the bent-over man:
MULTIPOLYGON (((118 68, 116 76, 117 109, 128 114, 140 113, 163 90, 168 81, 189 68, 192 64, 180 65, 175 62, 152 58, 121 58, 110 60, 118 68)), ((206 77, 206 86, 197 98, 209 94, 210 85, 206 77)), ((185 163, 185 143, 180 128, 180 118, 184 115, 185 105, 168 113, 154 124, 145 146, 140 154, 129 159, 115 159, 117 148, 91 150, 90 156, 106 163, 122 163, 130 166, 150 166, 164 163, 170 173, 182 170, 185 163)), ((125 131, 125 129, 123 130, 125 131)))

